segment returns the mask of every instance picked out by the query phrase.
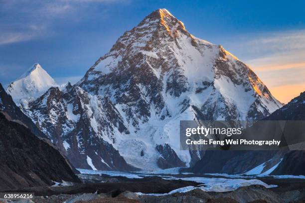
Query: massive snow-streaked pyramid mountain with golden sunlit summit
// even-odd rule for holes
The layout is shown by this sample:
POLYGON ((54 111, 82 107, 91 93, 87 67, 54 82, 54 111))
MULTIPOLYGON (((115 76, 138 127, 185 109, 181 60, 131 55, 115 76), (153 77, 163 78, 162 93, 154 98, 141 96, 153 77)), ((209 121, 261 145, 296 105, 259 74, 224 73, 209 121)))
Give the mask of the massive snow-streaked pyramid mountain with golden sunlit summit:
POLYGON ((180 120, 260 120, 282 104, 246 64, 157 9, 77 84, 19 106, 75 167, 131 171, 203 158, 179 150, 180 120))

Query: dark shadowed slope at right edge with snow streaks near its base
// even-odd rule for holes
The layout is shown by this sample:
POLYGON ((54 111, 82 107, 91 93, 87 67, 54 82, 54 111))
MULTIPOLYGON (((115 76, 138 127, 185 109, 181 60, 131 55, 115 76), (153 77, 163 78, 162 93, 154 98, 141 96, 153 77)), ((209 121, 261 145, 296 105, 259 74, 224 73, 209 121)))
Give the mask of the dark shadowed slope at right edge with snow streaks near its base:
MULTIPOLYGON (((305 120, 305 92, 291 102, 276 110, 263 120, 305 120)), ((207 152, 202 160, 196 163, 192 172, 215 173, 246 173, 249 175, 305 175, 305 152, 304 151, 245 151, 245 152, 207 152), (218 154, 217 167, 208 164, 213 160, 214 154, 218 154), (234 155, 232 157, 232 154, 234 155), (255 156, 254 156, 255 155, 255 156), (238 158, 244 157, 244 159, 238 158), (238 161, 236 161, 238 158, 238 161), (252 167, 245 171, 243 167, 252 167), (233 171, 231 169, 234 169, 233 171), (230 171, 231 170, 231 171, 230 171), (213 172, 211 172, 213 171, 213 172)))

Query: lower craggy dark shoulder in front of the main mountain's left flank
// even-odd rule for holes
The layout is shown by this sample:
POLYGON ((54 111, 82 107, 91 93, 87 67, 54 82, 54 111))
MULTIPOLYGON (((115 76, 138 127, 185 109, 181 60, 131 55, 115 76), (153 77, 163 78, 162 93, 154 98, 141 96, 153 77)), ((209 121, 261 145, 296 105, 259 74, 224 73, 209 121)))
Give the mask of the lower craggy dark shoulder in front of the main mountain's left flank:
POLYGON ((112 144, 98 136, 103 132, 127 132, 123 119, 109 99, 91 96, 70 84, 50 88, 23 109, 42 131, 69 158, 76 168, 134 171, 112 144))

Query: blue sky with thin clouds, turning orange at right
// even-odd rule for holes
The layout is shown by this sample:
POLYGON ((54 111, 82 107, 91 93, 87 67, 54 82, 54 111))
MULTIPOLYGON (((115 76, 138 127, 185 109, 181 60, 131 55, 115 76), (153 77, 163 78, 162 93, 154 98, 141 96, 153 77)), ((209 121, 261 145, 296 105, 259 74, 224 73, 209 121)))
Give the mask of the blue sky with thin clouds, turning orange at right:
POLYGON ((305 90, 304 0, 0 0, 0 5, 3 85, 36 62, 58 83, 75 82, 126 30, 166 8, 194 36, 248 63, 280 101, 305 90))

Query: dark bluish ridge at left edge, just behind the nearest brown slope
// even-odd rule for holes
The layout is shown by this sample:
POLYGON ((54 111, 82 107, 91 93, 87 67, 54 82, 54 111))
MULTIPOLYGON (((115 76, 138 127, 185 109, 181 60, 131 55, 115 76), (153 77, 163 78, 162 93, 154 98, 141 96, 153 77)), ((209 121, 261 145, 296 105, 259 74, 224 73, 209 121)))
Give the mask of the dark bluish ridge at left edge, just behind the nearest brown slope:
POLYGON ((9 120, 18 122, 27 128, 38 137, 47 138, 38 127, 28 118, 20 108, 13 102, 12 98, 6 94, 2 85, 0 84, 0 112, 9 120))

